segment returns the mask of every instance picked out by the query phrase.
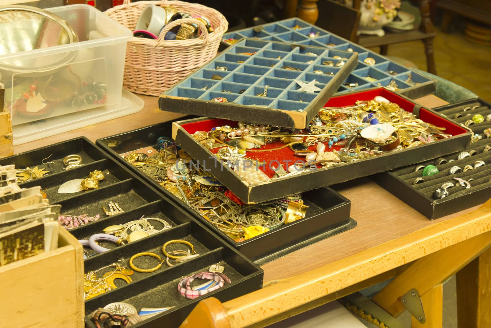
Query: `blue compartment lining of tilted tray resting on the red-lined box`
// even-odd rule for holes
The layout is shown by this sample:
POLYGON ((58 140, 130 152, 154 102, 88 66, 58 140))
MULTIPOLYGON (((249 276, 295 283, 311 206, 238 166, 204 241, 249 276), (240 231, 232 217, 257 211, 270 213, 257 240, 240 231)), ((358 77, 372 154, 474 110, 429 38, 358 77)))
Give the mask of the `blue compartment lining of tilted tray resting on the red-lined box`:
MULTIPOLYGON (((279 31, 283 28, 287 29, 276 27, 274 30, 279 31)), ((306 30, 312 29, 307 28, 306 30)), ((296 31, 288 33, 302 36, 296 31)), ((228 102, 247 106, 267 106, 287 111, 301 111, 314 101, 319 91, 298 91, 300 86, 294 79, 303 83, 316 80, 315 85, 324 89, 333 76, 316 74, 313 71, 320 69, 337 74, 342 68, 322 65, 322 61, 331 59, 332 56, 350 58, 353 55, 353 53, 336 49, 310 46, 292 47, 285 43, 242 39, 165 93, 207 101, 223 97, 228 102), (253 55, 241 55, 240 53, 253 55), (281 68, 283 66, 299 70, 281 68), (217 69, 218 67, 226 67, 227 70, 217 69), (222 79, 214 80, 212 79, 214 75, 219 75, 222 79), (257 96, 264 92, 265 86, 268 86, 267 96, 257 96), (243 92, 240 93, 241 91, 243 92)))

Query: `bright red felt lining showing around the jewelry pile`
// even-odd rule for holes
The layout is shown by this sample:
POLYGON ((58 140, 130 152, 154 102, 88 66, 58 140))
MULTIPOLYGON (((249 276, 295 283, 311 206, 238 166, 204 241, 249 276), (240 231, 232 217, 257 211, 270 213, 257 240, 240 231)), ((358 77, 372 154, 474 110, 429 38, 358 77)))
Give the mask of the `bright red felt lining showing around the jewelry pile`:
MULTIPOLYGON (((403 98, 402 96, 389 91, 387 89, 372 89, 372 90, 366 90, 366 91, 360 91, 356 93, 348 93, 340 96, 335 96, 329 99, 327 101, 326 106, 333 106, 333 107, 343 107, 343 106, 351 106, 355 104, 355 101, 357 100, 372 100, 376 96, 382 96, 388 99, 391 102, 394 102, 401 106, 404 110, 411 112, 414 108, 414 103, 409 101, 408 99, 403 98)), ((445 133, 450 133, 452 135, 458 135, 458 134, 463 134, 468 132, 466 129, 464 129, 462 126, 457 125, 449 120, 446 120, 442 117, 439 117, 438 115, 421 108, 420 113, 419 113, 420 119, 424 120, 425 122, 435 124, 436 126, 439 127, 445 127, 446 131, 445 133)), ((212 128, 217 127, 217 126, 223 126, 223 125, 229 125, 231 127, 237 127, 237 121, 232 121, 228 119, 203 119, 200 121, 195 121, 195 122, 190 122, 190 123, 185 123, 182 124, 181 126, 190 134, 193 134, 196 131, 211 131, 212 128)), ((328 150, 329 148, 327 147, 327 143, 325 143, 326 149, 328 150)), ((274 142, 271 144, 267 144, 265 146, 262 146, 261 149, 274 149, 284 146, 283 143, 281 142, 274 142)), ((334 147, 334 149, 339 150, 343 146, 337 146, 334 147)), ((213 153, 217 153, 219 148, 216 149, 211 149, 213 153)), ((316 150, 316 146, 311 146, 309 150, 316 150)), ((262 152, 253 152, 253 151, 247 151, 246 156, 249 158, 257 159, 262 162, 266 162, 266 165, 264 167, 260 167, 262 171, 264 171, 270 178, 273 177, 274 171, 271 169, 271 166, 273 167, 278 167, 278 162, 279 161, 281 164, 283 164, 283 167, 285 170, 288 170, 288 166, 292 165, 295 161, 299 160, 301 163, 305 162, 304 157, 299 157, 295 156, 294 152, 289 148, 285 147, 283 149, 278 149, 275 151, 262 151, 262 152)))

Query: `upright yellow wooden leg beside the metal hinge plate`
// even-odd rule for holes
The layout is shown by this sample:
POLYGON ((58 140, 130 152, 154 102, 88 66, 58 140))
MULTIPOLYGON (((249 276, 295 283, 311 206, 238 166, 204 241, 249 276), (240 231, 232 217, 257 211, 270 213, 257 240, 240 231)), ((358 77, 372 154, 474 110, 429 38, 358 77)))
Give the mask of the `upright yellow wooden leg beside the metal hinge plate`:
POLYGON ((442 328, 443 326, 443 284, 436 285, 421 296, 426 322, 420 324, 411 317, 411 328, 442 328))

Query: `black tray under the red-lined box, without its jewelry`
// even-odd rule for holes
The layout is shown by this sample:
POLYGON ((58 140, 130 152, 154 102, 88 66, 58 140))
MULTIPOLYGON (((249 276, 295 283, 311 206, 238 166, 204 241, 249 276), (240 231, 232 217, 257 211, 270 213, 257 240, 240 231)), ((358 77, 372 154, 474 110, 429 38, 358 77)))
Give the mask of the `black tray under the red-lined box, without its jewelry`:
POLYGON ((356 226, 355 220, 350 218, 351 201, 334 190, 324 187, 302 194, 304 204, 309 206, 305 218, 283 225, 280 228, 259 235, 253 239, 248 239, 240 243, 235 242, 216 229, 213 224, 205 220, 194 209, 186 206, 181 200, 159 185, 157 181, 146 176, 119 155, 147 146, 155 146, 159 137, 170 137, 171 126, 172 122, 163 122, 99 139, 96 141, 96 144, 111 156, 117 158, 118 161, 132 170, 141 179, 146 180, 161 193, 172 199, 178 206, 186 209, 188 213, 201 220, 211 229, 214 229, 218 234, 222 234, 223 239, 256 264, 264 264, 272 261, 289 252, 356 226))

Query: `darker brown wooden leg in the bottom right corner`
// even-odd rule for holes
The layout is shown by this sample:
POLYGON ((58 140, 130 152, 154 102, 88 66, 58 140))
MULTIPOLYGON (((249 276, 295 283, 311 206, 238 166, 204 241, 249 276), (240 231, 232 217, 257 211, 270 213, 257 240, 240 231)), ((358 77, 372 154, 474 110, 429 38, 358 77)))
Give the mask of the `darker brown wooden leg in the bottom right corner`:
POLYGON ((491 248, 457 272, 459 328, 491 327, 491 248))

